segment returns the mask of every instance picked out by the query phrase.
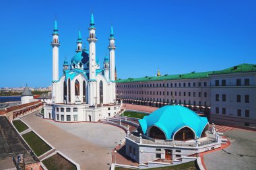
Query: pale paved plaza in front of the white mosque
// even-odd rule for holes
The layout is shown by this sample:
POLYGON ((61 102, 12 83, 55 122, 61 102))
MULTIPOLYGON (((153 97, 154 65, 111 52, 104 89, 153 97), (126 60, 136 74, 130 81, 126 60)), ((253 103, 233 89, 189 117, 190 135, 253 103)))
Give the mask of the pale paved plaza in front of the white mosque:
MULTIPOLYGON (((100 146, 99 142, 93 143, 92 140, 86 140, 91 138, 91 136, 83 138, 83 135, 79 134, 79 130, 81 130, 79 125, 83 128, 84 123, 78 123, 76 127, 73 127, 75 124, 58 123, 61 124, 59 128, 55 123, 50 123, 49 120, 38 118, 38 116, 35 116, 34 114, 30 114, 22 118, 22 120, 38 132, 38 134, 45 140, 51 143, 57 150, 78 163, 81 169, 109 169, 111 164, 111 150, 113 148, 110 149, 108 147, 117 144, 115 141, 112 141, 111 144, 100 146), (67 128, 65 126, 77 128, 77 131, 71 130, 67 132, 64 130, 67 128), (74 134, 71 134, 70 132, 73 132, 74 134)), ((92 124, 92 126, 96 125, 96 123, 88 124, 92 124)), ((103 134, 100 135, 100 133, 98 133, 98 138, 100 138, 102 142, 104 140, 108 140, 108 142, 111 140, 112 137, 110 138, 107 134, 108 130, 113 130, 113 128, 121 135, 121 128, 110 126, 108 124, 97 124, 104 126, 104 130, 102 131, 103 134), (104 135, 104 133, 106 134, 104 135)), ((90 130, 92 130, 88 127, 84 127, 84 130, 88 131, 84 136, 90 134, 90 130)))

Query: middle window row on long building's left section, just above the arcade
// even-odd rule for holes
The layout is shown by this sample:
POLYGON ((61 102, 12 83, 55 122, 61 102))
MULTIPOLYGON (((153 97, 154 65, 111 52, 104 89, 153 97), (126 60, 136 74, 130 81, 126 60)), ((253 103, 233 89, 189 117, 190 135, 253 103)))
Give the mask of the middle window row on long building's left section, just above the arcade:
MULTIPOLYGON (((122 94, 142 94, 142 95, 171 95, 173 96, 173 91, 117 91, 117 93, 120 93, 120 95, 122 94)), ((177 91, 174 91, 174 95, 177 96, 177 91)), ((183 91, 183 93, 181 91, 179 91, 179 96, 186 96, 188 95, 189 97, 191 96, 191 92, 186 92, 186 91, 183 91)), ((207 97, 207 92, 204 92, 203 93, 203 96, 204 97, 207 97)), ((196 96, 196 92, 193 92, 193 97, 197 97, 196 96)), ((198 97, 201 97, 201 92, 198 92, 198 97)))

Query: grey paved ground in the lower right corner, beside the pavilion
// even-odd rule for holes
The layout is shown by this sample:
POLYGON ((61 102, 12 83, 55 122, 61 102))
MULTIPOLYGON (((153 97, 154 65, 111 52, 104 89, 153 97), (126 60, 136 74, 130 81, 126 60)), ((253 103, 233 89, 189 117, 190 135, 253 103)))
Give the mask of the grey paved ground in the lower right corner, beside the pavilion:
POLYGON ((232 129, 224 132, 231 144, 227 148, 204 155, 207 170, 256 169, 256 132, 232 129))

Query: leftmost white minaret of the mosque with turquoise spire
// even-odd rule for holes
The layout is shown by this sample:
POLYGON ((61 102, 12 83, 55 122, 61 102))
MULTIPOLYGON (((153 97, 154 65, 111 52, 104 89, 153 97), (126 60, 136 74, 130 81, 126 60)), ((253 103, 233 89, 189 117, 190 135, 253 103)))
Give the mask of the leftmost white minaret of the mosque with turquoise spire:
POLYGON ((59 80, 59 32, 57 27, 57 20, 55 20, 55 26, 53 29, 53 81, 59 80))

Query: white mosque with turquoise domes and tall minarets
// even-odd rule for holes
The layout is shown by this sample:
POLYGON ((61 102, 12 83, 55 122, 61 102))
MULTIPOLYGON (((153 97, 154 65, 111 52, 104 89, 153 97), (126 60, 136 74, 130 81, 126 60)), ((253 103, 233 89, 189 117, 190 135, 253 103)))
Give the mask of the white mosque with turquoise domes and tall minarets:
POLYGON ((115 89, 115 36, 110 29, 109 58, 104 57, 100 68, 96 56, 96 28, 91 15, 89 50, 82 47, 79 31, 76 54, 69 63, 63 63, 63 75, 59 77, 59 32, 57 21, 53 30, 53 93, 51 104, 44 107, 44 118, 59 122, 97 122, 120 111, 115 89))

